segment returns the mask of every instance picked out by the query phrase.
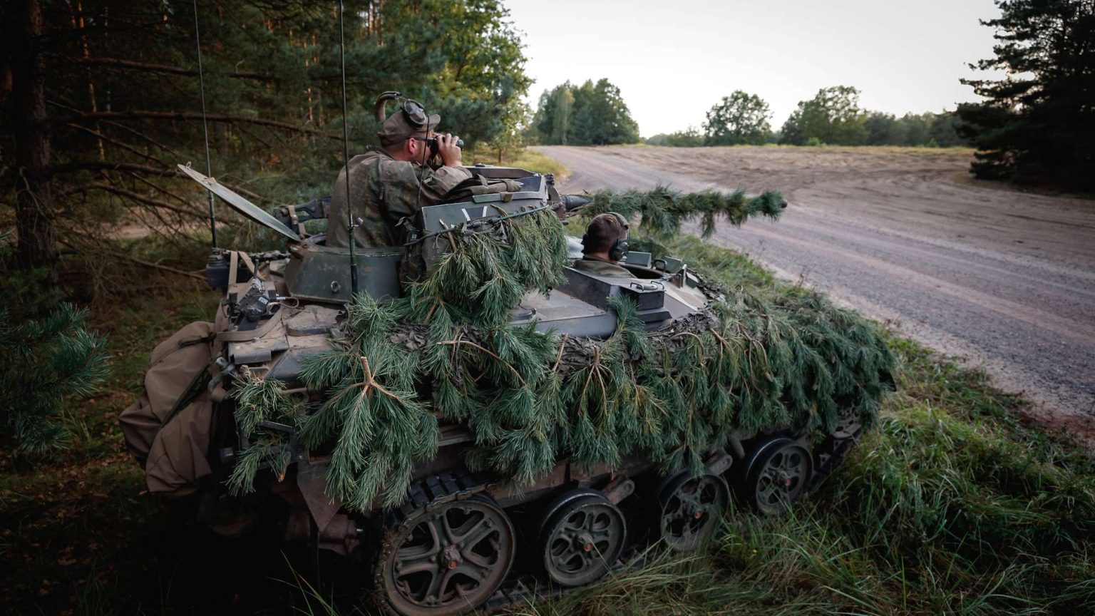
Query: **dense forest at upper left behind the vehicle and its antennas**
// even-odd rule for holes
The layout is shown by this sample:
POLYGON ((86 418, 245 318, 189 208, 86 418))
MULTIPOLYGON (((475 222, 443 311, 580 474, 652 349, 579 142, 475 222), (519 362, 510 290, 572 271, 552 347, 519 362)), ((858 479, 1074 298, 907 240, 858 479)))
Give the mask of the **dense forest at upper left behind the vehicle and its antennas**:
POLYGON ((343 123, 351 152, 374 141, 385 90, 469 146, 518 135, 531 80, 502 0, 345 4, 346 117, 337 3, 0 3, 0 226, 18 228, 18 266, 54 271, 64 250, 94 269, 120 221, 207 244, 205 194, 175 170, 206 170, 196 25, 214 174, 255 201, 330 190, 343 123))

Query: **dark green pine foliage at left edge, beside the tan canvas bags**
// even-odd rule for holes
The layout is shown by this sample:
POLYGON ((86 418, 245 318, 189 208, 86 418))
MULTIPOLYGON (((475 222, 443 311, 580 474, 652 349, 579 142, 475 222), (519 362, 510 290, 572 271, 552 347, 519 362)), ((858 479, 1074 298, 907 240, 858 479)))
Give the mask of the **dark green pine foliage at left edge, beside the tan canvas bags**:
POLYGON ((58 419, 65 399, 95 391, 110 372, 106 339, 87 328, 87 310, 61 304, 43 319, 11 323, 0 308, 0 421, 19 450, 65 447, 71 434, 58 419))

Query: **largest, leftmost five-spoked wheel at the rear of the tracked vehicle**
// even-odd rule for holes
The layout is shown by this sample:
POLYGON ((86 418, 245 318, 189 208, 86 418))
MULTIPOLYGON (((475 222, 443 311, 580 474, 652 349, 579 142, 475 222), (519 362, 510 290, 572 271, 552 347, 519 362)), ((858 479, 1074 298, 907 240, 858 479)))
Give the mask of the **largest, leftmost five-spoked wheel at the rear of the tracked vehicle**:
POLYGON ((407 616, 471 611, 509 574, 514 549, 514 526, 494 499, 420 507, 384 534, 381 591, 407 616))

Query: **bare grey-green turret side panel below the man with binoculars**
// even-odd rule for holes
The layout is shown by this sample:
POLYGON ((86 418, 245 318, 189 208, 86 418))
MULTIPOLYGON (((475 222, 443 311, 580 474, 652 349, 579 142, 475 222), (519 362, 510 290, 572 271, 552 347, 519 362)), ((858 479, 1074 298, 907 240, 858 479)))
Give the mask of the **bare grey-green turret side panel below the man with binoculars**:
MULTIPOLYGON (((322 246, 324 236, 314 236, 292 247, 285 282, 298 299, 346 304, 350 297, 349 249, 322 246)), ((378 301, 400 295, 402 247, 357 250, 357 288, 378 301)))

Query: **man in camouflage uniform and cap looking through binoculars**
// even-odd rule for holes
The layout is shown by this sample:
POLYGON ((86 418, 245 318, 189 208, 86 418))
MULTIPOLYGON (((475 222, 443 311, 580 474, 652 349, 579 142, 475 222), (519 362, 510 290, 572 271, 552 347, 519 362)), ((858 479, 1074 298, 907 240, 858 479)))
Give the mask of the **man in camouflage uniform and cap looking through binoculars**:
MULTIPOLYGON (((436 152, 427 139, 435 137, 434 129, 441 122, 437 114, 426 116, 420 104, 403 99, 397 93, 381 94, 377 100, 378 121, 383 118, 384 103, 402 102, 377 133, 381 148, 368 150, 350 159, 349 199, 355 217, 362 223, 354 229, 358 247, 400 246, 406 241, 399 223, 422 207, 437 205, 460 182, 472 174, 461 167, 461 151, 457 137, 436 136, 436 152), (395 94, 394 96, 391 94, 395 94), (436 170, 427 163, 441 159, 436 170), (420 182, 420 195, 419 195, 420 182)), ((327 246, 346 248, 349 232, 346 229, 346 168, 338 173, 327 212, 327 246)))

